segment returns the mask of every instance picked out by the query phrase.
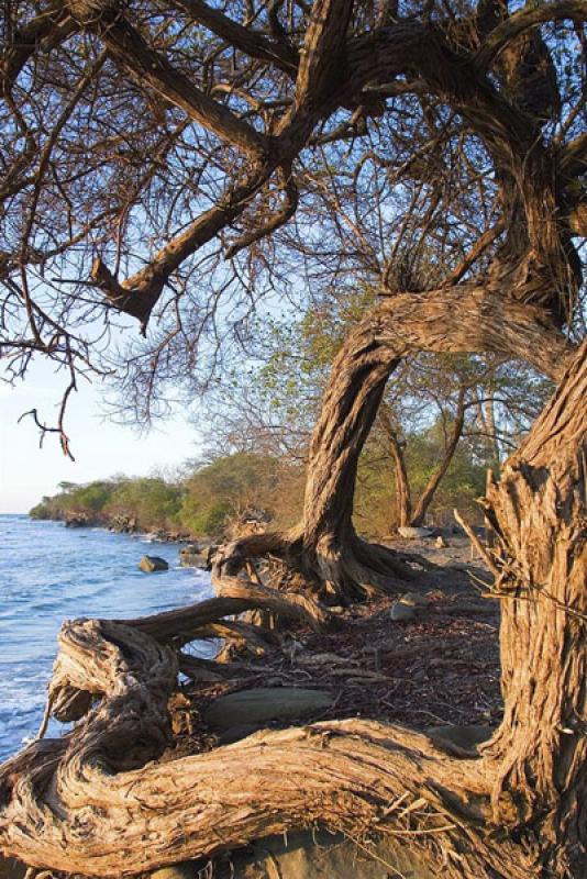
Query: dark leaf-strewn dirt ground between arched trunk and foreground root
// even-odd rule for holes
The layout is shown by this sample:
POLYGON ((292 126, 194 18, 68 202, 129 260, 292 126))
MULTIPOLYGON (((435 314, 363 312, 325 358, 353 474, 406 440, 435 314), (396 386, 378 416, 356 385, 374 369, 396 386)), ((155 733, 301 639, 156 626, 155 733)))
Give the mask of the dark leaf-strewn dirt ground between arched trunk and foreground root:
MULTIPOLYGON (((247 656, 246 675, 237 682, 187 685, 184 694, 191 705, 180 702, 179 709, 187 709, 189 717, 182 723, 178 716, 176 745, 167 758, 218 744, 202 721, 207 705, 221 694, 253 687, 315 688, 335 694, 332 708, 304 715, 306 722, 363 716, 419 730, 497 725, 499 602, 487 597, 483 582, 489 577, 483 561, 472 558, 468 539, 447 541, 442 549, 433 538, 394 543, 439 566, 425 576, 424 603, 413 608, 413 619, 394 620, 391 598, 340 609, 339 631, 295 630, 285 648, 247 656)), ((243 659, 237 652, 234 658, 243 659)))

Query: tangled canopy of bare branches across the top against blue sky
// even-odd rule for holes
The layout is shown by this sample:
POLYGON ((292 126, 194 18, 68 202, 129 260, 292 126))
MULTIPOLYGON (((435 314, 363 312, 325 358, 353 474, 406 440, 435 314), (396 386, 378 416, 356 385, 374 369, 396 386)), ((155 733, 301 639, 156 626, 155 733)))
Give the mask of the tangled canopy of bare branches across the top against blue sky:
MULTIPOLYGON (((582 0, 11 0, 2 354, 119 368, 142 418, 261 302, 488 279, 555 325, 585 233, 582 0), (302 293, 303 290, 303 293, 302 293), (117 356, 136 318, 144 343, 117 356), (148 325, 148 330, 147 330, 148 325)), ((63 427, 63 422, 59 422, 63 427)))

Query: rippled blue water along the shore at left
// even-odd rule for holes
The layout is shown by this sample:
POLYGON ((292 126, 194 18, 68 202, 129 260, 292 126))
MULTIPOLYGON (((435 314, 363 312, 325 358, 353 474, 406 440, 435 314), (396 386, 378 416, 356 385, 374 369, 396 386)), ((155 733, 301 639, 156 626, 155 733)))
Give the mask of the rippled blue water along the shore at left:
POLYGON ((208 574, 179 567, 179 548, 0 515, 0 761, 38 730, 64 620, 144 616, 211 594, 208 574), (145 553, 169 570, 140 571, 145 553))

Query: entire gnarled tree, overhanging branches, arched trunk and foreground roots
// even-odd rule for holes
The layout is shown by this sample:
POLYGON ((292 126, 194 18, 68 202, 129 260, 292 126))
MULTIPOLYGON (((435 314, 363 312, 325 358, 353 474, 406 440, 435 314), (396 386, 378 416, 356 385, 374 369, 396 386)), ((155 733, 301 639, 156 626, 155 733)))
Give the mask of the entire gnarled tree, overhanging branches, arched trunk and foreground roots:
MULTIPOLYGON (((446 876, 584 875, 587 367, 585 344, 576 351, 563 330, 580 285, 573 240, 585 233, 586 14, 583 0, 511 12, 501 0, 8 4, 2 320, 14 376, 44 354, 68 368, 69 394, 77 368, 100 368, 97 314, 113 333, 120 314, 145 334, 158 320, 128 355, 129 390, 149 414, 165 401, 157 376, 198 358, 206 371, 225 320, 246 342, 256 297, 278 282, 295 291, 291 252, 280 260, 274 249, 295 214, 298 253, 315 257, 309 277, 331 271, 334 286, 348 264, 311 220, 317 189, 336 198, 347 174, 366 203, 370 185, 395 178, 405 225, 442 235, 442 277, 395 294, 391 260, 380 303, 335 358, 299 526, 228 547, 213 601, 230 597, 240 612, 255 597, 322 624, 307 596, 235 579, 264 553, 336 600, 413 576, 352 523, 359 454, 407 355, 521 358, 558 388, 485 502, 498 535, 487 559, 502 605, 506 715, 483 759, 351 721, 154 763, 178 645, 229 605, 77 621, 62 632, 51 704, 86 719, 3 768, 4 850, 107 876, 121 860, 139 871, 313 822, 401 831, 394 805, 408 799, 425 803, 410 846, 446 876), (131 752, 142 769, 129 768, 131 752)), ((67 449, 63 412, 55 430, 67 449)))

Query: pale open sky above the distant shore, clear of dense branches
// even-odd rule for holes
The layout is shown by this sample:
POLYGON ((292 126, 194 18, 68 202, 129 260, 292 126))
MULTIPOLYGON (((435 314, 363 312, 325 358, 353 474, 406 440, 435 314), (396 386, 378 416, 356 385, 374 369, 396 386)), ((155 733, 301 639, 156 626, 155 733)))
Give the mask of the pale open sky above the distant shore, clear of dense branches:
POLYGON ((175 468, 202 450, 198 430, 180 413, 148 433, 114 423, 103 415, 103 389, 80 383, 70 398, 66 429, 75 461, 64 456, 56 435, 45 437, 23 412, 36 407, 42 420, 55 416, 63 377, 51 365, 37 366, 15 388, 0 383, 0 513, 25 513, 60 481, 89 482, 114 474, 148 476, 175 468))

